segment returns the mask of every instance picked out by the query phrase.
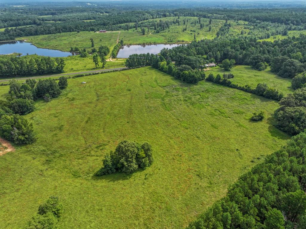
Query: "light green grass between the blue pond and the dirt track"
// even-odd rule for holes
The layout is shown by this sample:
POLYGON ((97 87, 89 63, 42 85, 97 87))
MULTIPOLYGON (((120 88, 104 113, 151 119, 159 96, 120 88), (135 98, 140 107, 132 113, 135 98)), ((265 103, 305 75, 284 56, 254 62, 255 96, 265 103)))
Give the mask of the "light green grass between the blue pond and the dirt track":
POLYGON ((95 33, 95 32, 69 32, 49 35, 37 35, 29 37, 21 37, 18 39, 25 39, 27 42, 33 43, 39 48, 57 49, 62 51, 69 51, 70 47, 78 47, 81 49, 91 49, 90 38, 94 39, 95 48, 98 49, 100 45, 109 47, 110 50, 116 44, 118 32, 109 33, 95 33), (101 39, 101 41, 100 41, 101 39))

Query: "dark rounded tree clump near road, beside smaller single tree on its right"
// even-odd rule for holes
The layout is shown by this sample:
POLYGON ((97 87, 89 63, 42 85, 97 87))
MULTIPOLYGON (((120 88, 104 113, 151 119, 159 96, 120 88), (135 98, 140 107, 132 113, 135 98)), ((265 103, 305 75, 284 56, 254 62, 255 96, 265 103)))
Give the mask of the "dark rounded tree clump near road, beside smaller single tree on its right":
POLYGON ((61 94, 58 84, 53 79, 40 79, 35 86, 35 97, 43 98, 49 94, 51 98, 57 98, 61 94))

